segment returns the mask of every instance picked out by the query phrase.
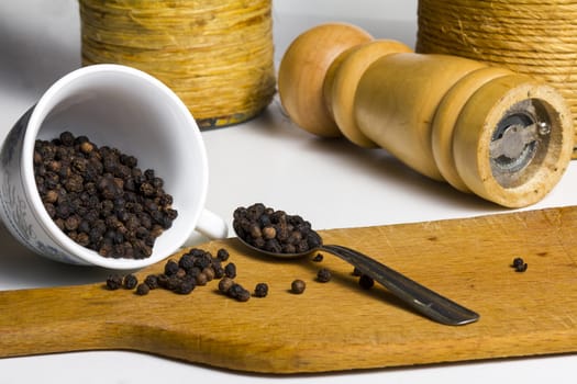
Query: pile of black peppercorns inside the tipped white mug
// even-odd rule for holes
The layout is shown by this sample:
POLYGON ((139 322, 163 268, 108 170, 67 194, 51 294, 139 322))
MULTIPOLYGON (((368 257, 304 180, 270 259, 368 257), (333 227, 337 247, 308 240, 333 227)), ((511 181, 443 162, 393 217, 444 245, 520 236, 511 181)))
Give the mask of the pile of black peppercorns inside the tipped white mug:
POLYGON ((63 132, 34 146, 46 212, 69 238, 102 257, 143 259, 178 213, 164 181, 134 156, 63 132))

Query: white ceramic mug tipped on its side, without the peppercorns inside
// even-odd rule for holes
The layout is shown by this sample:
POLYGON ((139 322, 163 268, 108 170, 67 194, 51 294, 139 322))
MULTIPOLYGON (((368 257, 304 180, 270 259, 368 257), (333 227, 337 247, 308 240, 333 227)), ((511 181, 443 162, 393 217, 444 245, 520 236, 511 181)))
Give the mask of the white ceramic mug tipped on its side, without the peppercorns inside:
POLYGON ((20 242, 54 260, 138 269, 173 255, 198 236, 195 230, 209 238, 228 236, 226 223, 204 208, 208 161, 197 123, 168 87, 134 68, 95 65, 56 81, 10 131, 0 161, 0 217, 20 242), (68 238, 48 216, 34 179, 34 143, 64 131, 119 148, 164 179, 178 217, 156 239, 149 258, 104 258, 68 238))

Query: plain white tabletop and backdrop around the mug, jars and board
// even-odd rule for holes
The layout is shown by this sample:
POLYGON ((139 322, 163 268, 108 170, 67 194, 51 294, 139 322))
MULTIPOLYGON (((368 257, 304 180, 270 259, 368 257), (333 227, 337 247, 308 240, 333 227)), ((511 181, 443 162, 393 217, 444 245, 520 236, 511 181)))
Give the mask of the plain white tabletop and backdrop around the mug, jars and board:
MULTIPOLYGON (((376 37, 413 45, 415 0, 290 0, 274 2, 276 59, 302 31, 324 21, 356 23, 376 37)), ((75 0, 0 2, 0 140, 56 79, 79 67, 75 0)), ((264 202, 299 213, 321 228, 468 217, 506 210, 431 181, 381 149, 323 140, 297 128, 275 101, 262 116, 202 134, 210 162, 207 206, 226 217, 264 202), (260 179, 247 183, 247 170, 260 179)), ((575 205, 577 162, 553 192, 530 208, 575 205)), ((199 238, 199 241, 203 240, 199 238)), ((44 260, 0 227, 0 290, 103 281, 108 271, 44 260)), ((0 314, 2 316, 2 314, 0 314)), ((0 337, 2 337, 0 335, 0 337)), ((0 359, 3 383, 514 383, 575 382, 577 355, 508 359, 322 375, 269 376, 222 371, 154 355, 74 352, 0 359)))

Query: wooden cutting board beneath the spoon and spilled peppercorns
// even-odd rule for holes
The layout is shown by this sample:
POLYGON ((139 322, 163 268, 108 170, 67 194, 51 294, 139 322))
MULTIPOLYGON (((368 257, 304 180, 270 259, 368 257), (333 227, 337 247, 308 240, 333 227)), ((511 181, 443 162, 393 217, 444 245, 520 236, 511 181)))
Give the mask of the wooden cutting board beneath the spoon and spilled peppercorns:
MULTIPOLYGON (((182 296, 102 284, 0 292, 0 355, 137 350, 233 370, 296 373, 371 369, 577 350, 577 207, 321 231, 478 312, 444 326, 385 289, 363 291, 352 267, 270 260, 231 238, 236 281, 267 282, 265 298, 235 302, 217 281, 182 296), (515 272, 513 258, 529 264, 515 272), (329 268, 329 283, 315 281, 329 268), (295 279, 307 282, 289 293, 295 279)), ((176 258, 176 256, 175 256, 176 258)), ((138 273, 160 272, 164 263, 138 273)))

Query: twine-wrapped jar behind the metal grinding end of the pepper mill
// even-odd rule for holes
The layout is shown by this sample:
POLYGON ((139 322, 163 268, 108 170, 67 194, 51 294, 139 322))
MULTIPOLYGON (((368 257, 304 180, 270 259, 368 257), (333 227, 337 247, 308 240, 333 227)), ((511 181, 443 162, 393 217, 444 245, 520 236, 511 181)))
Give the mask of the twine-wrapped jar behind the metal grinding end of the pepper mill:
POLYGON ((418 52, 504 66, 557 88, 577 146, 577 1, 420 0, 418 18, 418 52))

